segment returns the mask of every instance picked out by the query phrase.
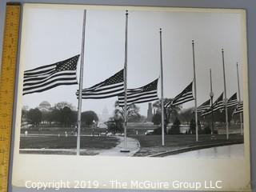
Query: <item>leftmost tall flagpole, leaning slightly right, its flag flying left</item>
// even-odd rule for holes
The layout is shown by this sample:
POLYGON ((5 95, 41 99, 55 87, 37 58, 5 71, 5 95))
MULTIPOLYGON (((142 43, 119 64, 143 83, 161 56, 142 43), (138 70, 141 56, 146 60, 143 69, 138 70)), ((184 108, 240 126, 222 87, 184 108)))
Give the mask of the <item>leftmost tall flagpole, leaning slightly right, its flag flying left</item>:
POLYGON ((85 33, 86 33, 86 10, 84 10, 84 12, 83 12, 83 22, 82 22, 82 50, 81 50, 81 66, 80 66, 79 94, 78 94, 77 155, 80 154, 81 111, 82 111, 82 81, 83 81, 83 64, 84 64, 84 51, 85 51, 85 33))

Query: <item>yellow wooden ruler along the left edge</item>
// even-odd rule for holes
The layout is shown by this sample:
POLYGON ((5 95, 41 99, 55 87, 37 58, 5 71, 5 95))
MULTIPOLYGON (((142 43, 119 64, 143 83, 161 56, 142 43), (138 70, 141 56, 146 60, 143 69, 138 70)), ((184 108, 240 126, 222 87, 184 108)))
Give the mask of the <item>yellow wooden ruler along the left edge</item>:
POLYGON ((0 74, 0 192, 8 186, 20 10, 18 4, 6 5, 0 74))

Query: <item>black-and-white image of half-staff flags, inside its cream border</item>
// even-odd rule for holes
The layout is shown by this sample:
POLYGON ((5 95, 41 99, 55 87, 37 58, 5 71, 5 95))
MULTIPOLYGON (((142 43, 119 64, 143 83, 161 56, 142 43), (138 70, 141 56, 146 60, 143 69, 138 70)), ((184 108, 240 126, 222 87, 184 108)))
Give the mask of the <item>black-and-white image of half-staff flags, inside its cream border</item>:
POLYGON ((242 15, 24 13, 20 154, 243 158, 242 15))

